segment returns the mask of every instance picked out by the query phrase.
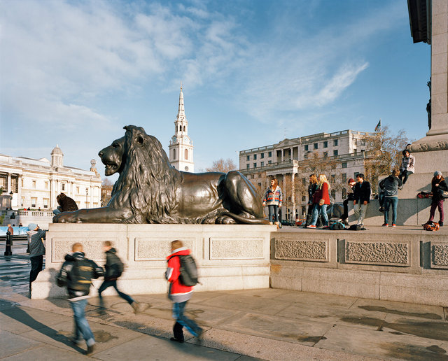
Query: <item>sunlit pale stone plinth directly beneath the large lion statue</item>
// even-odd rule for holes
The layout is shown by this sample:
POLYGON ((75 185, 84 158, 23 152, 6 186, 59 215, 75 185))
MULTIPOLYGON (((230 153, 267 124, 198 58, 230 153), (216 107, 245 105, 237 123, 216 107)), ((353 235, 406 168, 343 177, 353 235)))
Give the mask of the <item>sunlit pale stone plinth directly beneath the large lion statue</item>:
MULTIPOLYGON (((75 242, 85 255, 104 265, 102 243, 111 241, 125 263, 118 280, 130 295, 167 292, 165 269, 170 242, 180 239, 192 250, 200 271, 197 290, 269 287, 269 234, 272 225, 117 225, 51 224, 46 240, 45 271, 33 283, 31 298, 64 295, 55 275, 75 242)), ((102 279, 94 281, 95 295, 102 279)), ((104 295, 113 295, 108 289, 104 295)))

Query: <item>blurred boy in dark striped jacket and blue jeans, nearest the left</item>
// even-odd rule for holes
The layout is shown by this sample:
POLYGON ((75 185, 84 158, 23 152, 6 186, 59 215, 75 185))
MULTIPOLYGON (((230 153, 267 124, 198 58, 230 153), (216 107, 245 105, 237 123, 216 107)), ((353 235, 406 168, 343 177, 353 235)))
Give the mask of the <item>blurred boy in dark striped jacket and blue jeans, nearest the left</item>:
POLYGON ((104 271, 95 262, 84 257, 81 243, 74 243, 71 250, 73 253, 65 256, 65 262, 57 275, 56 283, 59 287, 66 285, 69 292, 70 306, 75 320, 75 331, 71 341, 78 344, 82 335, 87 344, 88 355, 93 352, 95 339, 85 318, 85 306, 92 278, 103 276, 104 271))

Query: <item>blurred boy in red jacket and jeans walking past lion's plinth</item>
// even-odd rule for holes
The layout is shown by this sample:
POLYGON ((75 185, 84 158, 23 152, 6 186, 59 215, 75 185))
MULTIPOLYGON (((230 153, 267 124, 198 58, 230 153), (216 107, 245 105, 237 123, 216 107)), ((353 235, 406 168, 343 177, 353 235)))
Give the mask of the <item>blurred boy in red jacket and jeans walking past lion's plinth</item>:
POLYGON ((183 247, 182 241, 172 241, 171 254, 167 257, 168 267, 165 272, 165 278, 169 282, 168 298, 173 302, 173 318, 176 323, 173 327, 174 337, 170 340, 177 342, 184 342, 183 327, 185 327, 190 334, 200 338, 203 330, 195 323, 183 314, 185 306, 188 300, 193 294, 193 286, 186 286, 179 281, 179 275, 181 274, 181 261, 176 255, 189 255, 190 250, 183 247))

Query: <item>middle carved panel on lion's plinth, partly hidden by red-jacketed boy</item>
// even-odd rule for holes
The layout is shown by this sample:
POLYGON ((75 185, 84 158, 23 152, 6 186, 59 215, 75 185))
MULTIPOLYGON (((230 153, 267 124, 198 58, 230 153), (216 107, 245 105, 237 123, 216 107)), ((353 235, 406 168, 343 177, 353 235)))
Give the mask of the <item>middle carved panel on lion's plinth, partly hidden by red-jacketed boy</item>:
MULTIPOLYGON (((179 238, 179 236, 178 236, 179 238)), ((136 237, 135 238, 135 260, 136 261, 160 261, 166 260, 171 252, 170 243, 176 236, 158 236, 157 238, 136 237)), ((182 237, 183 246, 192 251, 195 256, 195 237, 182 237)))

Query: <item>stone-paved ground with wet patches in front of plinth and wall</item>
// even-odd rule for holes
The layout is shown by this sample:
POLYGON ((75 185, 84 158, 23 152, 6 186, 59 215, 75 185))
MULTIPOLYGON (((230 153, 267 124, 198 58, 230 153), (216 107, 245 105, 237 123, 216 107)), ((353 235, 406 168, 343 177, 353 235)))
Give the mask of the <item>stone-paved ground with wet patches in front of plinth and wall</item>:
MULTIPOLYGON (((324 231, 318 231, 324 232, 324 231)), ((25 246, 26 249, 26 246, 25 246)), ((0 360, 83 360, 72 346, 65 299, 31 300, 23 247, 0 247, 0 360), (19 253, 19 254, 18 254, 19 253), (17 255, 18 254, 18 255, 17 255)), ((137 295, 138 315, 119 297, 96 297, 87 315, 98 360, 448 360, 448 309, 288 290, 196 292, 188 314, 202 341, 169 341, 166 295, 137 295)))

